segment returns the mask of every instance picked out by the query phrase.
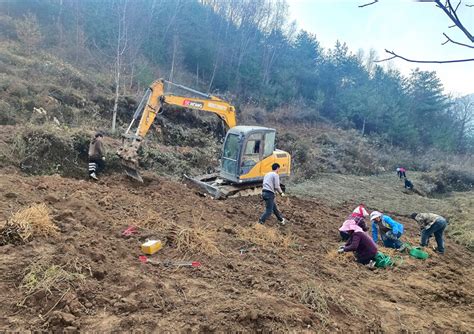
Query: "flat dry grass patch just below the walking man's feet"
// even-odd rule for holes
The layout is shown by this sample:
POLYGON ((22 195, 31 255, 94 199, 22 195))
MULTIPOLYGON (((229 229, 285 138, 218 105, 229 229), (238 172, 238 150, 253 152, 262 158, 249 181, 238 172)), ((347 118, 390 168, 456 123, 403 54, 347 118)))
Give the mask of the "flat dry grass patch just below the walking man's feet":
POLYGON ((242 240, 261 247, 288 249, 295 244, 295 239, 291 234, 283 235, 278 229, 261 224, 241 229, 238 236, 242 240))

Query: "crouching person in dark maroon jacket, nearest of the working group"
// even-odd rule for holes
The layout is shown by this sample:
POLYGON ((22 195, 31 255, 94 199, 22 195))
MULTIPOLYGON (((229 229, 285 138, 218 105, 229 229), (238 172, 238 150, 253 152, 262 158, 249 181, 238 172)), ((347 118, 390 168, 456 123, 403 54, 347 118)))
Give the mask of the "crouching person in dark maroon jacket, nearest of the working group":
POLYGON ((339 230, 349 234, 349 240, 339 248, 339 253, 355 252, 357 262, 362 264, 375 260, 377 245, 357 224, 347 224, 339 230))

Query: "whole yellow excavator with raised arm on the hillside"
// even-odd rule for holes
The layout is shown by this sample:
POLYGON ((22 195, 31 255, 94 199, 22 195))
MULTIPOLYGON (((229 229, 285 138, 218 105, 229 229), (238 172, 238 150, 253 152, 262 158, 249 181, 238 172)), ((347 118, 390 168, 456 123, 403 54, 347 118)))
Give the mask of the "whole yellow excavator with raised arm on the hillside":
POLYGON ((217 96, 159 79, 146 90, 123 134, 123 145, 117 152, 125 172, 133 179, 143 182, 138 172, 138 149, 156 115, 162 113, 168 105, 214 113, 228 129, 221 153, 220 171, 198 177, 184 175, 187 183, 201 193, 216 199, 253 195, 261 188, 264 175, 271 171, 274 163, 280 165, 280 176, 283 179, 290 175, 291 157, 287 152, 275 149, 275 129, 237 126, 235 107, 228 102, 217 96), (190 96, 167 93, 165 86, 177 87, 190 96), (138 126, 132 133, 139 118, 138 126))

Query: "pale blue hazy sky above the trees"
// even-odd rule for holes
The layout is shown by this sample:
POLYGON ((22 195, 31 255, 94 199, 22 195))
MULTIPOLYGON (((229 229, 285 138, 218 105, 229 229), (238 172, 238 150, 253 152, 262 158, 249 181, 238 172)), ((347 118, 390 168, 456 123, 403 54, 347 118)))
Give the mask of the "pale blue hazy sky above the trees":
MULTIPOLYGON (((444 60, 474 58, 474 49, 454 44, 441 45, 443 32, 452 39, 468 43, 441 9, 433 3, 405 0, 380 0, 365 8, 358 5, 366 0, 288 0, 290 15, 298 27, 316 34, 324 48, 333 47, 336 40, 346 42, 350 50, 362 48, 367 53, 373 48, 380 59, 388 55, 384 49, 411 59, 444 60)), ((472 1, 464 3, 474 4, 472 1)), ((464 25, 474 32, 474 7, 458 11, 464 25)), ((414 64, 401 59, 393 66, 408 74, 410 69, 436 71, 446 92, 474 93, 474 62, 459 64, 414 64)))

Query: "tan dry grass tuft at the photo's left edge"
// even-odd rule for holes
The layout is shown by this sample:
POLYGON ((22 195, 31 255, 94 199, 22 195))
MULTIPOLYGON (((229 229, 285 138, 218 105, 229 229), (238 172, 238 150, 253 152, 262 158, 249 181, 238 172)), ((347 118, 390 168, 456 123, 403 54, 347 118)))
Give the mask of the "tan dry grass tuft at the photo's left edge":
POLYGON ((0 243, 25 243, 35 236, 56 236, 58 233, 46 204, 33 204, 14 213, 4 224, 0 243))

